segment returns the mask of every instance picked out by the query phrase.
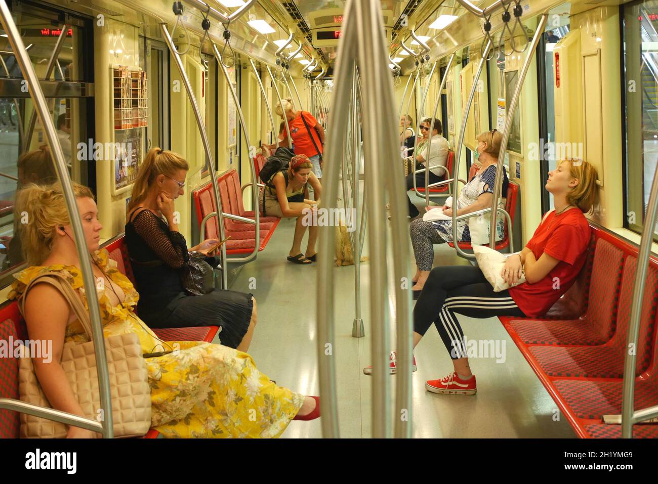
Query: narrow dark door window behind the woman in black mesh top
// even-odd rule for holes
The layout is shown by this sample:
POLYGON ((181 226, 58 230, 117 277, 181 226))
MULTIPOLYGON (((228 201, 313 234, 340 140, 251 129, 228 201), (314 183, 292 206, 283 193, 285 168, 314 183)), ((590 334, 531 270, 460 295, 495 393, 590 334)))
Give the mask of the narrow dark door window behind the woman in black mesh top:
POLYGON ((149 97, 149 123, 145 128, 146 149, 143 153, 155 146, 170 149, 169 89, 167 87, 169 83, 169 51, 163 42, 140 37, 139 56, 140 67, 146 71, 149 97))

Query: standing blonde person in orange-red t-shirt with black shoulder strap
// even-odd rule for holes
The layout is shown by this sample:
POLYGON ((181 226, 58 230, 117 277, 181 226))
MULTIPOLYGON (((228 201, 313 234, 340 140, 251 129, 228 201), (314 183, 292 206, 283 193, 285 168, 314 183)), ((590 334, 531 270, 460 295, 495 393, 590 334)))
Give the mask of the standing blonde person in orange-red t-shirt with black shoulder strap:
MULTIPOLYGON (((313 174, 322 183, 322 145, 324 145, 324 129, 322 128, 322 124, 310 112, 295 110, 295 105, 293 105, 290 97, 286 97, 280 103, 276 103, 275 110, 276 114, 282 118, 285 113, 288 119, 288 128, 290 128, 290 136, 295 147, 295 155, 306 155, 309 157, 309 160, 313 164, 313 174)), ((285 130, 284 139, 280 141, 279 145, 288 145, 288 133, 285 130)), ((274 148, 274 145, 265 145, 265 147, 271 150, 274 148)))

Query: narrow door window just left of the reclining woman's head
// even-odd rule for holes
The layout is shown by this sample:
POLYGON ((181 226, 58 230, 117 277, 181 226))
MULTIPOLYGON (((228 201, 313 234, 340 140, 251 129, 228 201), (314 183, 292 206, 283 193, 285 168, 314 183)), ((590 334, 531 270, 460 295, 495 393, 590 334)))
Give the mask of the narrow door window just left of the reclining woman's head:
MULTIPOLYGON (((540 119, 540 176, 542 187, 548 178, 548 172, 555 170, 556 153, 560 150, 550 149, 555 143, 555 57, 553 47, 569 33, 570 4, 563 3, 549 11, 549 24, 537 49, 537 78, 539 80, 539 119, 540 119)), ((553 194, 542 190, 542 213, 553 210, 553 194)))

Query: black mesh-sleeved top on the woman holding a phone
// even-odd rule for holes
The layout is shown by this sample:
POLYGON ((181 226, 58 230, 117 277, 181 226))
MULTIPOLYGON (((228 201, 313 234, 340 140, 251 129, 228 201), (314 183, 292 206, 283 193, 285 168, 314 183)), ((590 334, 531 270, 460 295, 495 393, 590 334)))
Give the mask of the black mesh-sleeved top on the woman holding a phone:
POLYGON ((146 209, 126 224, 126 245, 139 293, 139 317, 147 324, 153 317, 166 317, 167 304, 185 291, 180 279, 188 260, 185 237, 146 209))

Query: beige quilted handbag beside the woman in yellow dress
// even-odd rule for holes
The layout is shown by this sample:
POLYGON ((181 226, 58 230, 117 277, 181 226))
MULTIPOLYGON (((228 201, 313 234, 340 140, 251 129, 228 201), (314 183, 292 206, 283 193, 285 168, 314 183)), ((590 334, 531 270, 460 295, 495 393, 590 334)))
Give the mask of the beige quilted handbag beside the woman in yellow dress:
MULTIPOLYGON (((91 322, 82 301, 70 284, 59 274, 46 274, 30 282, 24 291, 38 282, 51 283, 64 295, 86 333, 91 338, 91 322)), ((25 298, 20 299, 24 312, 25 298)), ((138 437, 151 427, 151 388, 146 362, 142 356, 138 335, 127 333, 105 338, 105 352, 110 375, 114 437, 138 437)), ((65 343, 61 365, 71 389, 87 418, 101 419, 96 360, 93 341, 65 343)), ((34 373, 32 358, 20 358, 18 391, 24 402, 51 408, 34 373)), ((20 414, 20 437, 66 437, 67 426, 28 414, 20 414)))

